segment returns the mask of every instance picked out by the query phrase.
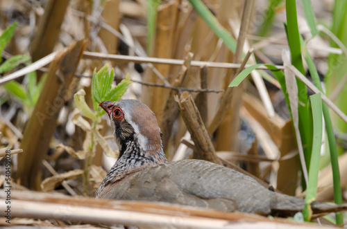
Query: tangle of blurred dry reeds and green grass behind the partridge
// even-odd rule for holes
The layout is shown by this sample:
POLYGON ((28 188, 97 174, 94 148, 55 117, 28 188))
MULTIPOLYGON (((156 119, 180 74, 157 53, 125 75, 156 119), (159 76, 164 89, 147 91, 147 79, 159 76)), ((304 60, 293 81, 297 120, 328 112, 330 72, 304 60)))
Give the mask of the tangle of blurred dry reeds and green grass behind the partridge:
POLYGON ((169 161, 198 157, 174 101, 189 91, 217 156, 307 203, 347 198, 345 0, 3 0, 0 34, 0 152, 23 149, 15 189, 94 196, 117 156, 95 101, 128 89, 157 116, 169 161))

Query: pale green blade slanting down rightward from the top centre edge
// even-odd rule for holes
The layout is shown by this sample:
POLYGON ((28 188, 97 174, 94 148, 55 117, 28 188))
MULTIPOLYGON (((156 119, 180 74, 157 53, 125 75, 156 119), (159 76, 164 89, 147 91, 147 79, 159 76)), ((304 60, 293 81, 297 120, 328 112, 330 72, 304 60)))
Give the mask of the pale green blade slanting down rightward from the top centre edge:
POLYGON ((235 53, 236 51, 236 40, 234 37, 230 35, 228 30, 224 28, 221 24, 219 24, 219 21, 216 17, 212 14, 212 12, 205 6, 205 4, 201 0, 188 0, 194 10, 198 12, 198 15, 200 15, 203 20, 210 26, 210 28, 213 30, 213 32, 223 40, 224 44, 232 51, 232 53, 235 53))

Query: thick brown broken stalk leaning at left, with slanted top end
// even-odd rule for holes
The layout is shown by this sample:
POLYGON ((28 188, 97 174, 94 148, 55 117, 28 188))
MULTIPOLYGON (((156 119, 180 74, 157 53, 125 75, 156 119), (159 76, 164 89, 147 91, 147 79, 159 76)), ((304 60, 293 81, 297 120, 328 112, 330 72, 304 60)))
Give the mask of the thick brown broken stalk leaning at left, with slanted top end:
POLYGON ((49 67, 40 98, 24 130, 21 144, 24 154, 18 156, 17 181, 20 180, 26 187, 40 189, 40 178, 37 179, 37 174, 56 129, 59 111, 74 92, 70 89, 70 83, 84 47, 83 40, 71 44, 56 55, 49 67))

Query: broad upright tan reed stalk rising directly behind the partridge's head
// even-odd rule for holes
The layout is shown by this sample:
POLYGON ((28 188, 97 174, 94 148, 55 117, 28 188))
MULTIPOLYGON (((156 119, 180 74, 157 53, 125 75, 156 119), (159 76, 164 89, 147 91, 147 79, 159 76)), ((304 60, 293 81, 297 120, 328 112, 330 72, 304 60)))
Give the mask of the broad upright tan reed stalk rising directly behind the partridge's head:
MULTIPOLYGON (((176 24, 178 17, 178 1, 169 1, 159 6, 157 15, 156 33, 153 39, 152 56, 171 58, 173 55, 174 35, 176 33, 176 24)), ((148 41, 152 42, 152 41, 148 41)), ((154 65, 157 70, 164 75, 170 74, 170 66, 154 65)), ((145 82, 158 82, 155 76, 148 68, 144 75, 145 82)), ((160 116, 162 106, 167 100, 167 90, 155 87, 144 87, 142 91, 142 101, 145 102, 155 113, 160 116)), ((158 120, 161 122, 161 120, 158 120)))

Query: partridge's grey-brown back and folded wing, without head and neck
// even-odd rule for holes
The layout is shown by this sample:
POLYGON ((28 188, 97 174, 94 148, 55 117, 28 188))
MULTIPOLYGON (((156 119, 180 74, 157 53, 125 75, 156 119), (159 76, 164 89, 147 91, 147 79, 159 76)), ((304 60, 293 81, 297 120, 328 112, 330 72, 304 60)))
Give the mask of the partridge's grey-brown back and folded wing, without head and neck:
MULTIPOLYGON (((235 170, 207 161, 184 160, 142 170, 119 183, 104 198, 163 201, 267 215, 277 195, 235 170)), ((289 202, 294 200, 294 205, 303 208, 303 200, 296 203, 296 198, 288 197, 289 202)))

